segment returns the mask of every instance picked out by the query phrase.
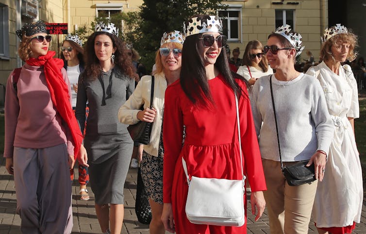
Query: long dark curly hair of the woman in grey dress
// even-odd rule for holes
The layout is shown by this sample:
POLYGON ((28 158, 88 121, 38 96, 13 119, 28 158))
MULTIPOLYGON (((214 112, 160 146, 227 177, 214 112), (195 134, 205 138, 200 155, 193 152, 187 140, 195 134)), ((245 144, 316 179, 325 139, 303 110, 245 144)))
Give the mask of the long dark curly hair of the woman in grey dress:
POLYGON ((95 32, 91 34, 86 41, 84 53, 85 70, 83 77, 86 79, 96 79, 98 76, 100 76, 101 66, 97 55, 95 55, 94 43, 95 38, 102 34, 109 36, 112 40, 113 47, 116 47, 116 57, 114 62, 115 67, 117 67, 122 72, 122 74, 125 74, 133 79, 135 68, 132 64, 132 60, 128 57, 126 52, 127 48, 125 43, 122 42, 121 39, 117 38, 116 35, 106 32, 95 32))

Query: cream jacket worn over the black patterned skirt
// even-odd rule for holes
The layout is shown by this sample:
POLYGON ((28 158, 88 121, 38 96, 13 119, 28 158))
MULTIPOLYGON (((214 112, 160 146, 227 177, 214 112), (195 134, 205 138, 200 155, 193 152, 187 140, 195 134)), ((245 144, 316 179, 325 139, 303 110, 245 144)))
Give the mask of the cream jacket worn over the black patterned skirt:
MULTIPOLYGON (((166 79, 164 73, 155 74, 154 81, 154 97, 152 106, 156 110, 154 122, 152 124, 152 130, 150 135, 150 144, 144 145, 144 150, 157 156, 159 148, 160 133, 163 124, 164 113, 164 96, 166 90, 166 79)), ((124 124, 135 124, 139 120, 137 119, 137 113, 140 111, 141 105, 144 108, 150 107, 150 95, 151 95, 151 76, 143 76, 140 82, 137 84, 133 94, 130 98, 119 108, 118 119, 124 124)))

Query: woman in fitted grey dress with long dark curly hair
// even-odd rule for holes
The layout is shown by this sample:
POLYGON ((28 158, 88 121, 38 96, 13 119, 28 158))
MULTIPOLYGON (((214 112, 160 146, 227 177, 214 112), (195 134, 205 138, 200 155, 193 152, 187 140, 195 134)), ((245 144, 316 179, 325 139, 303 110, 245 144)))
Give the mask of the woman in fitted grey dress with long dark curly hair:
POLYGON ((134 89, 134 68, 113 23, 96 24, 85 45, 85 70, 79 78, 76 117, 84 129, 91 189, 103 233, 120 234, 124 217, 123 185, 133 149, 118 108, 134 89))

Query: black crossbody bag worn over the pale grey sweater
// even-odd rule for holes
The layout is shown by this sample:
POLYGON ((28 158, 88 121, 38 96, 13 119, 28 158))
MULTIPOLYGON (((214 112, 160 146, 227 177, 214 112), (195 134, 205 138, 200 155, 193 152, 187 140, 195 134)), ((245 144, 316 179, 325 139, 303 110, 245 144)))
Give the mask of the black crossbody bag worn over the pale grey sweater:
POLYGON ((274 114, 275 124, 276 124, 277 143, 278 143, 278 150, 280 153, 282 173, 283 173, 284 177, 286 178, 287 184, 290 186, 297 186, 297 185, 313 182, 316 180, 315 173, 314 173, 315 167, 314 167, 314 163, 312 165, 310 165, 309 167, 306 167, 306 165, 309 163, 309 160, 300 161, 300 162, 292 164, 290 166, 283 167, 282 158, 281 158, 280 139, 278 137, 276 109, 275 109, 275 104, 274 104, 274 99, 273 99, 272 75, 269 78, 269 84, 271 87, 273 114, 274 114))

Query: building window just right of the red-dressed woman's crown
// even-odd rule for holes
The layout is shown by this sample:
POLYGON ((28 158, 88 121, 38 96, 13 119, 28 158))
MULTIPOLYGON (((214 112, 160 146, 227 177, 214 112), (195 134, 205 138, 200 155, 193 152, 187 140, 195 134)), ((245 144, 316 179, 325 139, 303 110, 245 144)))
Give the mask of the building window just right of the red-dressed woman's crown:
POLYGON ((228 41, 240 41, 241 32, 241 7, 230 7, 224 11, 218 11, 218 17, 222 20, 222 33, 228 37, 228 41))

